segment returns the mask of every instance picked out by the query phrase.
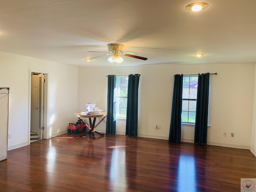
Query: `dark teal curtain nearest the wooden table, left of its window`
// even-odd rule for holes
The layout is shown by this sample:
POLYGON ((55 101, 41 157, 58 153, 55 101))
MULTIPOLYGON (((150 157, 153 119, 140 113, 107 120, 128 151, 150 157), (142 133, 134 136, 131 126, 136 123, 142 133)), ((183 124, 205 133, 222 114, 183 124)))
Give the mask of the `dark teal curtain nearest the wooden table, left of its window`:
POLYGON ((116 76, 108 75, 108 101, 107 101, 107 122, 106 122, 106 134, 116 134, 116 100, 115 90, 116 88, 116 76))

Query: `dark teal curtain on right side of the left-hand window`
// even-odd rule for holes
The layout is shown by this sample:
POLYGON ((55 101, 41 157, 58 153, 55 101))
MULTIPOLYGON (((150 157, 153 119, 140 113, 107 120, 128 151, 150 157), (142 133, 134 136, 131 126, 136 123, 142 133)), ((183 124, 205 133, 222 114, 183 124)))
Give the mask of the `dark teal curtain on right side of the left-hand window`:
POLYGON ((125 135, 137 136, 138 132, 138 89, 140 74, 130 74, 128 78, 126 132, 125 135))

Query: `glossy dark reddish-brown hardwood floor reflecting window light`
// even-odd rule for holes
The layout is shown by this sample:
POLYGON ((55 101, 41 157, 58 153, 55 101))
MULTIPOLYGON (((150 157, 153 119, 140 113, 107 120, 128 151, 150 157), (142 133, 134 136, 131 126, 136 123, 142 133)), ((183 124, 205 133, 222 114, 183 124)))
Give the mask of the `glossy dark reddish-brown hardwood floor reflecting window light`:
POLYGON ((64 134, 0 162, 0 192, 240 192, 240 178, 256 178, 250 150, 122 135, 64 134))

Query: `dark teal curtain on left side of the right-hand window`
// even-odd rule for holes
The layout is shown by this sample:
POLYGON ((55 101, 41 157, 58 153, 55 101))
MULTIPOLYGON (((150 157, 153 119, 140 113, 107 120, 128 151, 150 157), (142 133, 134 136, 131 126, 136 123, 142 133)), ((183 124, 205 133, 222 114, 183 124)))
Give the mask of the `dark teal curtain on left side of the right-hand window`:
POLYGON ((180 143, 183 75, 174 75, 169 142, 180 143))

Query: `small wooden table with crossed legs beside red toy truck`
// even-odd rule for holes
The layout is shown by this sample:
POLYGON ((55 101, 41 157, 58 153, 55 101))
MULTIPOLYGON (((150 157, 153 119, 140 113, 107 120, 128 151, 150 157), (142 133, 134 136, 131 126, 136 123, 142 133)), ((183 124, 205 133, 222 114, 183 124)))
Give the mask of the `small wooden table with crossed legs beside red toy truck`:
POLYGON ((89 122, 90 122, 90 127, 86 125, 89 128, 89 131, 84 133, 84 134, 82 134, 82 135, 79 135, 79 137, 82 137, 82 136, 85 136, 86 134, 89 134, 90 138, 92 136, 92 139, 95 139, 94 132, 99 134, 100 136, 104 136, 104 134, 95 131, 95 128, 106 118, 107 113, 102 112, 100 114, 84 115, 84 114, 82 114, 82 112, 80 112, 80 113, 75 113, 75 115, 78 118, 89 118, 89 122), (100 120, 100 122, 98 122, 98 124, 95 125, 97 117, 103 117, 103 118, 100 120), (92 118, 93 118, 93 122, 92 122, 92 118))

